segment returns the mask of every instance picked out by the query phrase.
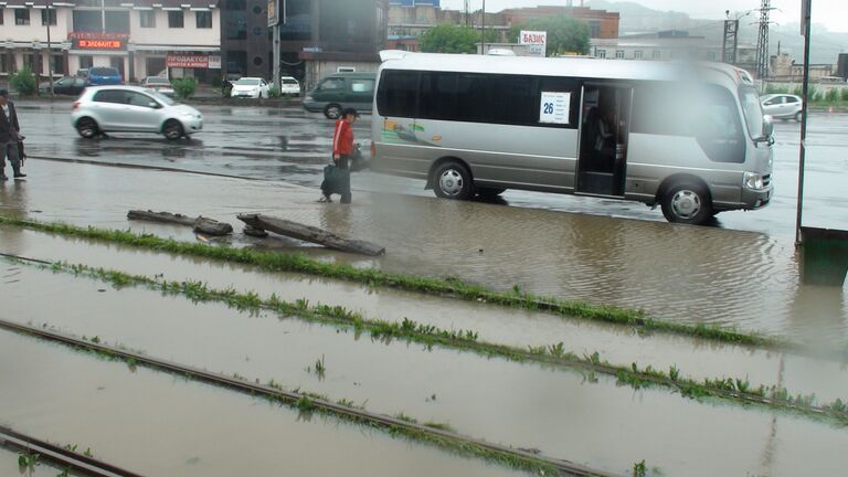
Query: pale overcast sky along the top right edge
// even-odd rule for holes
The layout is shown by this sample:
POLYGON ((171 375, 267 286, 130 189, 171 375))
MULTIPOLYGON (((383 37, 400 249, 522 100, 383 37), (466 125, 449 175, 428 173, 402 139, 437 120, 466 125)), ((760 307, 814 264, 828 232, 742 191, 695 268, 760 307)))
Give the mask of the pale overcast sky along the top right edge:
MULTIPOLYGON (((615 1, 615 0, 613 0, 615 1)), ((761 0, 630 0, 655 10, 675 10, 699 19, 723 19, 724 10, 759 9, 761 0)), ((486 10, 496 12, 515 7, 540 4, 564 6, 565 0, 486 0, 486 10)), ((591 6, 591 0, 585 3, 591 6)), ((580 0, 574 0, 580 4, 580 0)), ((462 10, 464 0, 442 0, 442 8, 462 10)), ((471 0, 471 9, 479 10, 483 0, 471 0)), ((772 20, 780 24, 801 21, 801 0, 772 0, 772 20)), ((751 17, 749 17, 751 18, 751 17)), ((813 22, 823 23, 830 31, 848 32, 848 0, 813 0, 813 22)))

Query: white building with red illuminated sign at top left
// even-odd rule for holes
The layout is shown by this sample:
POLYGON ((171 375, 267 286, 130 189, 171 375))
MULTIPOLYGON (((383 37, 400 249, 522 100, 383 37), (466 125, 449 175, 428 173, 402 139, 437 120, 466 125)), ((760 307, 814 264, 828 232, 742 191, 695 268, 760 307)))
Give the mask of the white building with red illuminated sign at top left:
POLYGON ((114 66, 138 81, 166 70, 209 80, 220 73, 218 0, 0 0, 0 77, 24 65, 40 76, 114 66), (47 54, 50 20, 51 54, 47 54))

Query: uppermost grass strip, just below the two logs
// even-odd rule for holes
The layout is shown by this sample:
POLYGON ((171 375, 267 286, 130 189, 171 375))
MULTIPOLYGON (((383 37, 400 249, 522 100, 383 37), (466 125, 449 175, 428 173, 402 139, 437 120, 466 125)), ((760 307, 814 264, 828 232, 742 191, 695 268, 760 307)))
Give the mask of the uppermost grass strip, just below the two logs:
POLYGON ((643 331, 661 331, 697 337, 711 341, 757 346, 770 349, 791 350, 798 348, 786 341, 733 328, 703 324, 691 325, 670 322, 654 319, 647 316, 643 310, 592 305, 579 300, 561 300, 553 297, 541 297, 522 292, 517 285, 511 292, 497 292, 455 277, 421 277, 384 272, 378 268, 359 268, 344 264, 330 264, 316 261, 303 253, 276 253, 257 251, 254 248, 210 246, 192 242, 180 242, 173 239, 162 239, 153 234, 138 234, 131 231, 103 230, 92 226, 81 227, 60 222, 46 223, 4 215, 0 215, 0 224, 49 232, 64 236, 118 243, 157 252, 250 264, 268 272, 295 272, 354 282, 370 287, 396 288, 465 300, 485 301, 488 304, 528 310, 543 310, 568 318, 581 318, 592 321, 622 325, 643 331))

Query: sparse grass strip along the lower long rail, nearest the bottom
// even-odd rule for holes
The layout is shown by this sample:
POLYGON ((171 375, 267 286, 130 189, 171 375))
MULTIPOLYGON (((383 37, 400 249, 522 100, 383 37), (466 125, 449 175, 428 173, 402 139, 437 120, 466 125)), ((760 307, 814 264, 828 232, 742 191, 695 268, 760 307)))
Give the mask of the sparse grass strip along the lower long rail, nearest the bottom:
MULTIPOLYGON (((335 417, 348 423, 362 425, 386 432, 392 437, 401 437, 414 443, 433 445, 443 451, 453 453, 462 457, 480 458, 491 464, 526 470, 539 476, 563 475, 561 466, 571 465, 571 463, 559 460, 561 465, 554 465, 552 460, 542 457, 527 455, 527 452, 511 448, 507 451, 498 449, 496 446, 487 446, 481 442, 455 433, 453 430, 441 428, 438 425, 428 426, 426 423, 418 425, 415 420, 399 420, 396 417, 382 416, 364 411, 362 406, 352 405, 349 400, 330 401, 322 394, 316 394, 297 389, 295 391, 285 391, 282 385, 272 380, 268 384, 259 384, 258 380, 251 381, 239 374, 225 377, 214 374, 208 371, 181 367, 176 363, 159 361, 156 358, 144 356, 141 352, 129 350, 120 344, 106 344, 99 337, 74 337, 71 335, 59 333, 46 324, 41 329, 33 329, 32 326, 14 325, 8 328, 6 324, 1 325, 13 332, 33 337, 50 342, 59 342, 67 348, 78 352, 84 352, 106 361, 124 362, 130 371, 138 367, 165 372, 168 374, 184 378, 187 381, 203 382, 211 385, 227 388, 242 392, 251 396, 264 398, 271 402, 279 403, 288 409, 297 411, 301 416, 310 417, 314 414, 335 417), (178 368, 179 367, 179 368, 178 368), (215 378, 218 377, 218 378, 215 378)), ((11 325, 9 325, 11 326, 11 325)), ((579 467, 579 466, 575 466, 579 467)), ((575 471, 569 475, 594 475, 592 471, 575 471)))

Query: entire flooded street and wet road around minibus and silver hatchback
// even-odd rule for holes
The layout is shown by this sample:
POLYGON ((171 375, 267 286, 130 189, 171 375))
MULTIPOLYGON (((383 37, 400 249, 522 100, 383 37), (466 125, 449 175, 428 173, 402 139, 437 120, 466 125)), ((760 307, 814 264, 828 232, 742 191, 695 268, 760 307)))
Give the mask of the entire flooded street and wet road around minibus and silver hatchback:
MULTIPOLYGON (((801 282, 795 123, 775 125, 770 206, 686 226, 666 223, 659 210, 603 199, 508 191, 496 202, 438 200, 423 181, 369 172, 353 177, 352 205, 322 204, 317 186, 332 123, 320 115, 296 106, 204 106, 203 132, 168 142, 83 140, 68 109, 60 102, 20 107, 33 158, 25 181, 0 182, 0 320, 317 393, 613 475, 629 476, 642 460, 648 476, 840 475, 848 466, 848 300, 845 287, 801 282), (128 221, 129 210, 202 215, 235 232, 211 237, 128 221), (370 241, 386 254, 251 237, 236 219, 245 212, 370 241), (328 271, 352 265, 422 282, 456 278, 645 315, 593 320, 579 310, 278 272, 12 220, 130 231, 229 248, 231 256, 244 248, 303 253, 328 271), (94 277, 96 267, 149 283, 113 276, 116 285, 94 277), (214 293, 166 293, 165 280, 214 293), (303 307, 278 314, 234 294, 303 307), (357 315, 351 322, 319 319, 319 308, 357 315), (374 333, 373 324, 410 322, 444 333, 374 333), (709 336, 719 328, 765 339, 709 336), (451 333, 474 338, 462 344, 445 338, 451 333), (761 399, 752 400, 757 389, 761 399)), ((809 127, 805 225, 848 229, 848 190, 837 182, 848 167, 848 116, 816 114, 809 127)), ((370 116, 354 135, 367 150, 370 116)), ((91 447, 139 474, 522 474, 379 426, 305 414, 1 328, 0 425, 91 447)), ((15 462, 0 446, 0 475, 15 462)), ((34 475, 57 474, 45 469, 34 475)))

